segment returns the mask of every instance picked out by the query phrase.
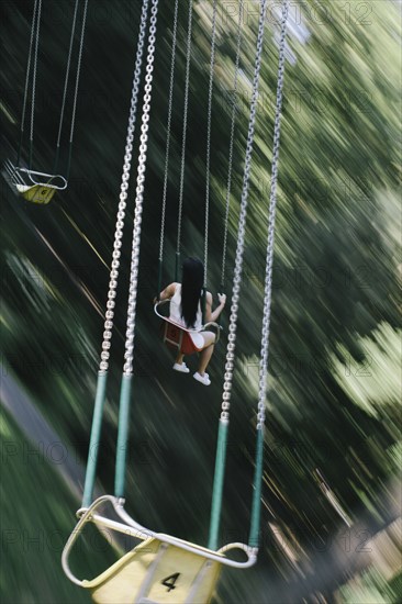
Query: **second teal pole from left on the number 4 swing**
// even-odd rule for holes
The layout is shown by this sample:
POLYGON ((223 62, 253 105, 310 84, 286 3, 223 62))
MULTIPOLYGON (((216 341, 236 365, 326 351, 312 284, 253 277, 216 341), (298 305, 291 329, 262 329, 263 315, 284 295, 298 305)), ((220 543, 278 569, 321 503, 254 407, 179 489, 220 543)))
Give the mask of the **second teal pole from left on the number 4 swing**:
POLYGON ((132 383, 132 374, 123 373, 122 385, 120 390, 119 434, 118 434, 118 451, 116 451, 116 460, 115 460, 114 495, 116 497, 124 497, 125 465, 126 465, 126 458, 127 458, 127 440, 129 440, 131 383, 132 383))

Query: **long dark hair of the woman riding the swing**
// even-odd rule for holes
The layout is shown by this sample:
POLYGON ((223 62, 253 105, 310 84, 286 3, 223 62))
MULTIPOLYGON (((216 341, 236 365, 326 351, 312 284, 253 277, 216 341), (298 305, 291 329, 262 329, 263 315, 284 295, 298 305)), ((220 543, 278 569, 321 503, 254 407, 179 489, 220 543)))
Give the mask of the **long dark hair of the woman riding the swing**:
POLYGON ((202 295, 204 267, 198 258, 186 258, 182 264, 181 317, 188 328, 194 327, 198 305, 202 295))

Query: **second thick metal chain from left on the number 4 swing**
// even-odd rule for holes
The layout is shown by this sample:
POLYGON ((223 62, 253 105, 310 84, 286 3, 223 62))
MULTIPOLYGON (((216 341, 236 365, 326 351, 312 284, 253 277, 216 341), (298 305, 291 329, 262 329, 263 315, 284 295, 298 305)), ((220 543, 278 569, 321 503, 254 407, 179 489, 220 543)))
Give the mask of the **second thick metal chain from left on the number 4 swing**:
POLYGON ((129 290, 129 306, 127 306, 127 325, 125 332, 125 362, 123 372, 125 376, 130 376, 133 372, 133 357, 134 357, 134 336, 135 336, 135 310, 137 302, 137 282, 138 282, 138 264, 139 264, 139 243, 141 243, 141 223, 143 213, 144 201, 144 182, 145 182, 145 168, 146 168, 146 150, 148 141, 148 122, 149 122, 149 109, 150 109, 150 93, 153 82, 154 70, 154 53, 155 53, 155 34, 156 34, 156 21, 158 14, 158 0, 153 0, 150 9, 150 26, 148 38, 148 54, 145 76, 145 94, 143 103, 143 116, 141 126, 141 145, 138 157, 138 170, 137 170, 137 187, 135 198, 135 212, 134 212, 134 230, 133 230, 133 245, 131 255, 130 267, 130 290, 129 290))

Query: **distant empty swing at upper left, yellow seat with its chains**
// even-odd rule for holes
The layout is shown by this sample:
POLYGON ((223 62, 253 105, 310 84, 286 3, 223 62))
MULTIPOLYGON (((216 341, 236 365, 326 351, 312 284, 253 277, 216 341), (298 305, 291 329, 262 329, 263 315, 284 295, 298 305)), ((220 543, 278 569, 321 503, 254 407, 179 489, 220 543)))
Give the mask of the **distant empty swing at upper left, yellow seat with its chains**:
POLYGON ((59 124, 58 124, 54 170, 53 170, 53 174, 46 174, 46 172, 34 170, 32 168, 33 144, 34 144, 35 97, 36 97, 36 72, 37 72, 37 54, 38 54, 40 31, 41 31, 42 0, 35 0, 34 2, 32 25, 31 25, 30 51, 29 51, 26 76, 25 76, 25 90, 24 90, 22 118, 21 118, 21 126, 20 126, 20 131, 21 131, 20 144, 18 149, 16 164, 14 165, 11 161, 11 159, 8 159, 4 163, 4 176, 9 181, 9 183, 14 188, 14 190, 19 194, 21 194, 24 199, 33 203, 40 203, 40 204, 49 203, 55 192, 65 190, 68 184, 88 0, 82 0, 83 9, 82 9, 81 32, 79 37, 79 48, 78 48, 78 58, 77 58, 76 82, 74 88, 74 100, 72 100, 72 108, 71 108, 71 124, 70 124, 69 142, 68 142, 68 160, 67 160, 66 176, 62 176, 60 174, 57 174, 57 170, 58 170, 58 163, 59 163, 62 132, 63 132, 64 116, 66 112, 68 82, 70 77, 71 56, 72 56, 75 33, 77 27, 79 3, 80 3, 80 0, 76 0, 74 16, 72 16, 70 42, 69 42, 69 51, 68 51, 68 57, 67 57, 67 67, 66 67, 66 76, 65 76, 65 82, 64 82, 63 99, 62 99, 60 118, 59 118, 59 124), (24 142, 24 127, 25 127, 25 116, 26 116, 26 105, 27 105, 27 98, 29 98, 29 90, 30 90, 31 72, 32 72, 31 124, 30 124, 29 160, 27 160, 27 167, 26 167, 22 163, 22 150, 23 150, 23 142, 24 142))

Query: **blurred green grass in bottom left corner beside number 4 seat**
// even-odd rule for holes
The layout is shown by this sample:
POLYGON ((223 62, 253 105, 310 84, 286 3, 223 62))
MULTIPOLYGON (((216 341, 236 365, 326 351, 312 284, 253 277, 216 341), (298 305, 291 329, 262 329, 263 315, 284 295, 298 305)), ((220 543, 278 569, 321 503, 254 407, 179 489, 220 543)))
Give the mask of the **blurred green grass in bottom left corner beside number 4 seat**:
POLYGON ((4 411, 0 426, 2 446, 12 444, 18 450, 4 460, 1 480, 1 547, 7 559, 0 573, 3 601, 89 602, 86 593, 64 581, 62 566, 55 563, 70 533, 70 513, 77 502, 45 456, 26 454, 31 444, 4 411), (22 451, 29 463, 23 461, 22 451))

